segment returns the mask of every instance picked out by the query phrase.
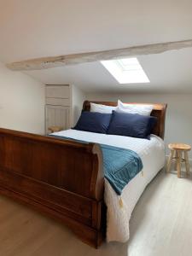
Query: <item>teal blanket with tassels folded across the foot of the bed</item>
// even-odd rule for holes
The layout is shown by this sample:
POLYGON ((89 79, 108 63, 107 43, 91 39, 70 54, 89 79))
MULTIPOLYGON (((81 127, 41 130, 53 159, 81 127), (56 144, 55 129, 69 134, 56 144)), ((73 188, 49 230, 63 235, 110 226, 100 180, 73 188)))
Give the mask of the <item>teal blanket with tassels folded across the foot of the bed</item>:
MULTIPOLYGON (((70 137, 49 135, 59 139, 79 141, 70 137)), ((87 143, 79 141, 81 143, 87 143)), ((113 189, 121 195, 125 185, 143 169, 143 162, 138 154, 130 149, 117 148, 105 144, 100 144, 103 155, 104 176, 108 179, 113 189)))

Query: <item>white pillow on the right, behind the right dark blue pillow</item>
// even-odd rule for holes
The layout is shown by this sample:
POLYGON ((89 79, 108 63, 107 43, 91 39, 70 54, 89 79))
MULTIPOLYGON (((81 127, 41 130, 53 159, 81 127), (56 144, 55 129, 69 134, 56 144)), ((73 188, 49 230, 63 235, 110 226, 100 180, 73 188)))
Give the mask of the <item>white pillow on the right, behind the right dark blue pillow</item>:
POLYGON ((125 104, 118 101, 118 108, 116 111, 119 113, 138 113, 141 115, 150 115, 153 108, 153 105, 125 104))

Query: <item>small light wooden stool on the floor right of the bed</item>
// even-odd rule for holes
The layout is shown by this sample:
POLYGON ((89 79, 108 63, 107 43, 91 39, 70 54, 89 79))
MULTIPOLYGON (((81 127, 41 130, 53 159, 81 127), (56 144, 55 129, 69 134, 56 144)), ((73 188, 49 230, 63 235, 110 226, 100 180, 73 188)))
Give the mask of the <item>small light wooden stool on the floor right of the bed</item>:
POLYGON ((189 175, 188 151, 191 149, 191 147, 183 143, 172 143, 169 144, 168 147, 171 149, 171 153, 167 161, 166 172, 170 172, 172 160, 175 160, 175 170, 177 170, 177 177, 181 177, 181 162, 184 161, 187 175, 189 175), (184 158, 182 158, 183 153, 184 158))

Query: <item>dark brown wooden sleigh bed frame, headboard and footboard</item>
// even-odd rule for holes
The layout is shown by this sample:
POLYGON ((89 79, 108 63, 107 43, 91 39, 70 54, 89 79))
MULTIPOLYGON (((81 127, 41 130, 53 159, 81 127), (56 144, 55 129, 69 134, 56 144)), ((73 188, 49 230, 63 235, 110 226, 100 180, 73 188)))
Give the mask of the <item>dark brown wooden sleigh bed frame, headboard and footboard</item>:
MULTIPOLYGON (((154 134, 163 138, 166 104, 153 105, 158 119, 154 134)), ((84 102, 83 110, 90 110, 90 102, 84 102)), ((93 247, 105 237, 103 189, 98 144, 0 128, 0 193, 61 220, 93 247)))

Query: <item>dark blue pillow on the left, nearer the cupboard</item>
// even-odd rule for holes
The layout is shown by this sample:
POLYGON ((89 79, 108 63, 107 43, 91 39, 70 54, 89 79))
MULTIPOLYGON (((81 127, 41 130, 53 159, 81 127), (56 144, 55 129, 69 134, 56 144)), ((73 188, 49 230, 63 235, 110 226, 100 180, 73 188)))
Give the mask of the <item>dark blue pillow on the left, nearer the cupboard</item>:
POLYGON ((111 113, 84 111, 81 113, 78 123, 73 129, 79 131, 107 133, 111 116, 111 113))

